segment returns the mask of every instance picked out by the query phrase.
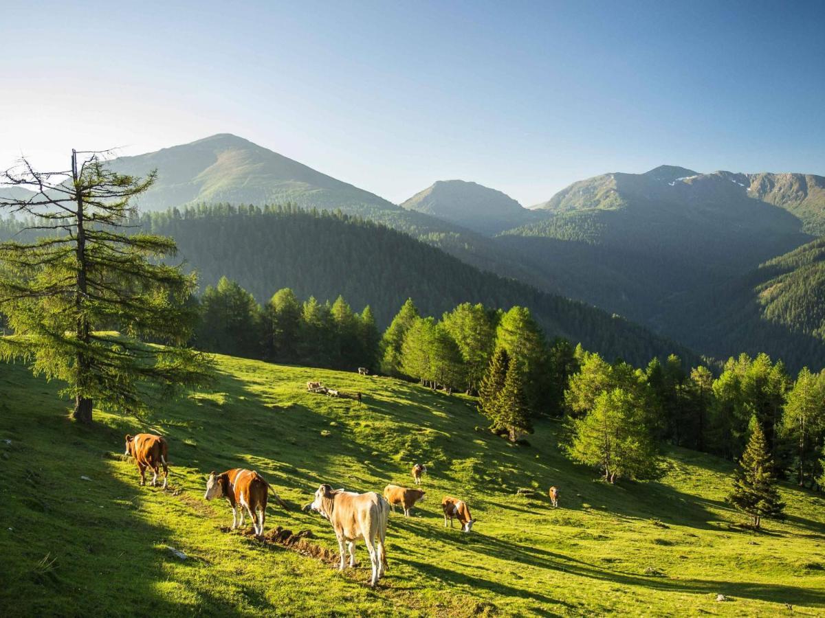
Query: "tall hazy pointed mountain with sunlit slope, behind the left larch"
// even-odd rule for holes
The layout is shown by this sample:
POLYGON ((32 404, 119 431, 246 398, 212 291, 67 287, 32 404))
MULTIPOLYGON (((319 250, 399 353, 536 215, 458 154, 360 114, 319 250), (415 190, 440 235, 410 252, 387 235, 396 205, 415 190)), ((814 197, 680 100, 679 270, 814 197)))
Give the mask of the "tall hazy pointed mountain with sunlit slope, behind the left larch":
POLYGON ((158 170, 157 182, 139 200, 144 211, 196 202, 399 209, 378 195, 229 133, 136 157, 120 157, 109 165, 115 171, 138 176, 158 170))

